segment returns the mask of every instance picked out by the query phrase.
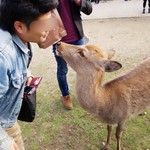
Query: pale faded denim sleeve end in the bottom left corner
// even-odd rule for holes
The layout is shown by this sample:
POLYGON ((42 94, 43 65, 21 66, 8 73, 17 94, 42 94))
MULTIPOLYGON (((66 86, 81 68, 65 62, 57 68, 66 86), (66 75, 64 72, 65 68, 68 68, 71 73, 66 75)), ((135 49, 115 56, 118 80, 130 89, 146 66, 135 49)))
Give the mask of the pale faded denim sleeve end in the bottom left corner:
POLYGON ((0 150, 10 150, 13 139, 0 126, 0 150))

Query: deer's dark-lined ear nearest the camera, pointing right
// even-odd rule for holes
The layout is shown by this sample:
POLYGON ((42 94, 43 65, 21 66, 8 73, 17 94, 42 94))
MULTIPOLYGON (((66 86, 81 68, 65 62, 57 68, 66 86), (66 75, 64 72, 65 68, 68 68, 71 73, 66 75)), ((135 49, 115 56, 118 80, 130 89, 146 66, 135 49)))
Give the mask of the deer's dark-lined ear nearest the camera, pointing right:
POLYGON ((117 61, 103 60, 100 62, 102 68, 104 68, 105 72, 113 72, 122 68, 122 65, 117 61))

